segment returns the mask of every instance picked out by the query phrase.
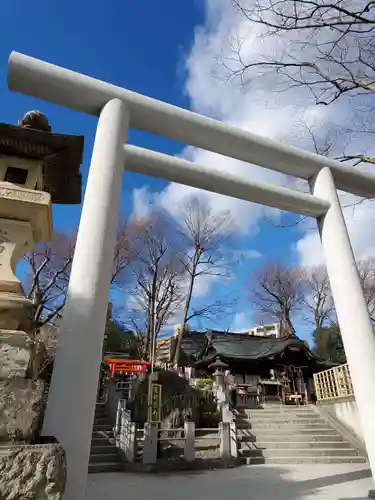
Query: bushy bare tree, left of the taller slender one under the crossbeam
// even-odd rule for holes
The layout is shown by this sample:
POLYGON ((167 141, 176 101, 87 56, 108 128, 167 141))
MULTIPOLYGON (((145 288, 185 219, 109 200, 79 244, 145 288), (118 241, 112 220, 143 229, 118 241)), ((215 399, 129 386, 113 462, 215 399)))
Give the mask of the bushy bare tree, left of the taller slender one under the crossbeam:
POLYGON ((183 268, 178 258, 174 228, 161 214, 154 214, 138 239, 133 272, 136 307, 129 312, 137 331, 145 332, 143 351, 151 357, 154 340, 182 302, 183 268), (143 327, 139 327, 140 321, 143 327))

